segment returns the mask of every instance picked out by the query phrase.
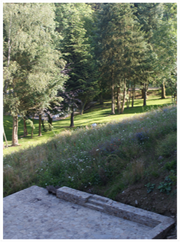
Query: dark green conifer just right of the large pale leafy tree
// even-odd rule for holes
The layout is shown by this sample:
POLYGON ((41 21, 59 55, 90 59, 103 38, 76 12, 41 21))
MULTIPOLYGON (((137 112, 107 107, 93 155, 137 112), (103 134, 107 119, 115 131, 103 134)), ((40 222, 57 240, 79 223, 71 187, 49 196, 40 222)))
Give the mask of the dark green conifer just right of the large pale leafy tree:
POLYGON ((67 91, 81 90, 81 114, 86 103, 91 101, 97 92, 95 63, 91 48, 92 10, 87 4, 56 4, 57 30, 62 34, 60 43, 64 59, 69 64, 67 91))

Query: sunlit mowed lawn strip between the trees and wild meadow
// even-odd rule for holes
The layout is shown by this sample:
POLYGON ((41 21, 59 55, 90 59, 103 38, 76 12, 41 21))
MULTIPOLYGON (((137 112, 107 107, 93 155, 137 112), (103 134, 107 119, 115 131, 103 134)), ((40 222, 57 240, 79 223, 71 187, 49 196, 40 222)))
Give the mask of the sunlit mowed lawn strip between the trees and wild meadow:
MULTIPOLYGON (((10 154, 11 152, 19 151, 20 149, 28 148, 29 146, 36 146, 41 143, 46 143, 52 137, 55 137, 60 132, 69 129, 77 129, 79 127, 90 126, 93 123, 102 124, 108 123, 111 121, 119 121, 122 119, 126 119, 132 117, 134 115, 145 113, 149 110, 158 108, 160 106, 168 105, 172 103, 172 99, 168 96, 166 99, 161 99, 159 96, 149 96, 147 99, 147 106, 143 107, 143 99, 135 99, 134 107, 130 108, 125 107, 123 114, 115 114, 111 115, 111 101, 104 102, 104 105, 100 105, 96 103, 94 107, 88 109, 84 112, 83 115, 75 115, 74 117, 74 126, 70 128, 70 117, 66 119, 62 119, 59 121, 53 121, 53 130, 44 132, 42 130, 42 136, 38 136, 38 126, 39 120, 34 120, 34 134, 33 138, 31 138, 31 127, 27 125, 28 128, 28 136, 23 136, 23 120, 19 118, 19 129, 18 129, 18 136, 19 136, 19 144, 20 146, 17 147, 10 147, 8 149, 4 149, 4 155, 10 154)), ((12 117, 11 116, 4 116, 4 129, 8 140, 8 145, 11 145, 12 139, 12 117)), ((5 142, 4 142, 5 144, 5 142)))

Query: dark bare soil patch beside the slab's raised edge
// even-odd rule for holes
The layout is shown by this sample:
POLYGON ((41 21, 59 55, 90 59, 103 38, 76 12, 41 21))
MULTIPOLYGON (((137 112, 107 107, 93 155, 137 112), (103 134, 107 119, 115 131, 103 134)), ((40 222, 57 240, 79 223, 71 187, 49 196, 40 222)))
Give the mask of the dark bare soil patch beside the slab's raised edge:
MULTIPOLYGON (((156 185, 155 187, 158 187, 159 181, 161 181, 161 178, 153 182, 156 185)), ((177 239, 177 188, 175 187, 170 194, 161 193, 158 189, 147 193, 147 188, 144 183, 129 186, 122 193, 119 193, 115 200, 172 217, 176 223, 168 232, 166 239, 177 239)))

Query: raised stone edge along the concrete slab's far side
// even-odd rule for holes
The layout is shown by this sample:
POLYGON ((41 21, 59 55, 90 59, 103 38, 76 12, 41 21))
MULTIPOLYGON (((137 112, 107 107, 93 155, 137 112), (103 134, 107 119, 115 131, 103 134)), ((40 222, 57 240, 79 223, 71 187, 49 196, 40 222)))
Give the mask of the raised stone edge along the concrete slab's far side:
MULTIPOLYGON (((85 207, 89 207, 88 200, 91 198, 97 201, 97 204, 103 208, 100 210, 102 212, 152 227, 152 230, 145 236, 142 236, 141 239, 164 238, 167 231, 172 228, 175 223, 172 218, 65 186, 56 190, 56 196, 57 198, 77 203, 85 207)), ((91 209, 93 209, 93 207, 91 207, 91 209)), ((98 207, 94 209, 99 210, 98 207)))

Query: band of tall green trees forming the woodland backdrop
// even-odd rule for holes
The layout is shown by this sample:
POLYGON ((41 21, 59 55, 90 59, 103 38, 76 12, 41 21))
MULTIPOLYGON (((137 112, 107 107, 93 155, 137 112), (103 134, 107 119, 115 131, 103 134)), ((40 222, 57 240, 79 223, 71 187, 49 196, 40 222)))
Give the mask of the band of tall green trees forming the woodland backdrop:
MULTIPOLYGON (((111 97, 111 114, 133 107, 136 87, 146 106, 149 86, 176 95, 176 3, 4 3, 3 112, 33 132, 49 120, 111 97)), ((4 133, 5 137, 5 133, 4 133)))

